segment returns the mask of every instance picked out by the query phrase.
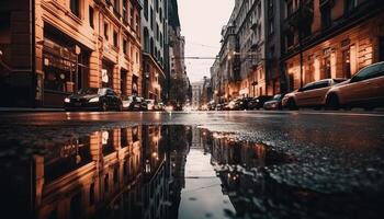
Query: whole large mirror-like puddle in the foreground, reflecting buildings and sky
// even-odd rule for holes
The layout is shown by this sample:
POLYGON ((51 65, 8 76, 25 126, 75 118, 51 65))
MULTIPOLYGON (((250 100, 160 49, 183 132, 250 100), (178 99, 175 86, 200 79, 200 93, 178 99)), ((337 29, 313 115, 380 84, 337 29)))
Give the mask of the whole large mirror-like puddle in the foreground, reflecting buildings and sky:
POLYGON ((1 146, 0 206, 12 218, 340 218, 358 210, 359 200, 291 187, 267 173, 294 158, 195 126, 1 146))

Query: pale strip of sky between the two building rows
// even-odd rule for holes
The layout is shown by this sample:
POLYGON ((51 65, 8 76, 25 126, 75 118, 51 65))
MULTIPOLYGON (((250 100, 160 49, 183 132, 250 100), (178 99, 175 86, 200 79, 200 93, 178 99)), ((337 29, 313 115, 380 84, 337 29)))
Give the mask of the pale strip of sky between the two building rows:
MULTIPOLYGON (((181 34, 185 36, 185 56, 215 57, 221 47, 221 31, 227 24, 235 0, 179 0, 181 34)), ((191 82, 210 77, 214 60, 187 59, 191 82)))

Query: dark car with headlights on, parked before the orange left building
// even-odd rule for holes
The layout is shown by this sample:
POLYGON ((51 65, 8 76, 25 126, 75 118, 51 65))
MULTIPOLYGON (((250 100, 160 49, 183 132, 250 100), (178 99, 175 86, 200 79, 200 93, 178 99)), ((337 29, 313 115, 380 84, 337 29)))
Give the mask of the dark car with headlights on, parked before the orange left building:
POLYGON ((91 111, 122 111, 122 100, 109 88, 81 89, 79 92, 64 100, 66 111, 91 110, 91 111))

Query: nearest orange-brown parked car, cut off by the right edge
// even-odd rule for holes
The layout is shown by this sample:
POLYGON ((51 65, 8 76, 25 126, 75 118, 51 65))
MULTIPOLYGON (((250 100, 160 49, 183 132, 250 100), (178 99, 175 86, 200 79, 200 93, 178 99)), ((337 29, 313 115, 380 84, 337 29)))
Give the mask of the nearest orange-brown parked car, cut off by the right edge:
POLYGON ((384 106, 384 61, 365 67, 350 80, 331 88, 325 104, 327 110, 384 106))

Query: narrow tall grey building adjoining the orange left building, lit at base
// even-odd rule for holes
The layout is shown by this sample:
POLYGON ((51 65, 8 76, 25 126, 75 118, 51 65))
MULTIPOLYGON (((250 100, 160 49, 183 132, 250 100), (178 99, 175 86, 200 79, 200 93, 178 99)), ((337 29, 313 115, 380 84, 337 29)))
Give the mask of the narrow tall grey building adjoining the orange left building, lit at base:
POLYGON ((142 0, 143 95, 161 101, 165 83, 167 0, 142 0))

